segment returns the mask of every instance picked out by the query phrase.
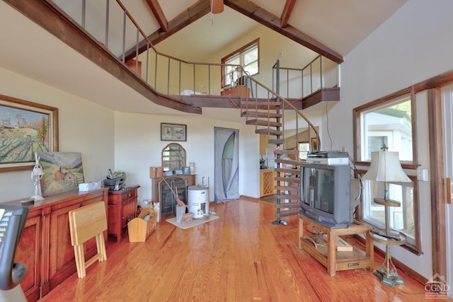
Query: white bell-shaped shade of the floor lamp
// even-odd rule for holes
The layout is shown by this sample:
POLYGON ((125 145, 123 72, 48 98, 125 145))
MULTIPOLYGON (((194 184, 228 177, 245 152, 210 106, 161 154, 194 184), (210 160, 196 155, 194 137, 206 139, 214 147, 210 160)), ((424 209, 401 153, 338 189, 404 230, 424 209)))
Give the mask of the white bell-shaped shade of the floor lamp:
POLYGON ((363 180, 382 182, 411 182, 399 163, 398 152, 379 151, 371 153, 371 165, 363 180))

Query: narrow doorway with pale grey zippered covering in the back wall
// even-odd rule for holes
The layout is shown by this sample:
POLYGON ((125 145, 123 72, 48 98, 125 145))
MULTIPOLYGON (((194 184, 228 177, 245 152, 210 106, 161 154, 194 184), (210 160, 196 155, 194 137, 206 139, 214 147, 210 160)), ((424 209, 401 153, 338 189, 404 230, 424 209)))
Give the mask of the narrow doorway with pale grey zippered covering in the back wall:
POLYGON ((239 129, 214 127, 214 202, 239 198, 239 129))

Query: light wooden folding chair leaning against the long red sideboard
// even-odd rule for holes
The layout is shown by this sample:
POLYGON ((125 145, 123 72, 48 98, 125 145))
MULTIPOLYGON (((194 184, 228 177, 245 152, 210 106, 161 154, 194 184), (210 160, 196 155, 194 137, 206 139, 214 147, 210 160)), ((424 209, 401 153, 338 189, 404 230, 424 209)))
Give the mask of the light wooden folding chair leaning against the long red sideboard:
POLYGON ((76 256, 77 275, 79 278, 86 276, 86 267, 96 260, 107 260, 103 231, 107 229, 105 217, 105 203, 94 202, 87 206, 69 211, 69 231, 71 232, 71 245, 74 246, 76 256), (98 253, 85 262, 84 243, 96 237, 98 253))

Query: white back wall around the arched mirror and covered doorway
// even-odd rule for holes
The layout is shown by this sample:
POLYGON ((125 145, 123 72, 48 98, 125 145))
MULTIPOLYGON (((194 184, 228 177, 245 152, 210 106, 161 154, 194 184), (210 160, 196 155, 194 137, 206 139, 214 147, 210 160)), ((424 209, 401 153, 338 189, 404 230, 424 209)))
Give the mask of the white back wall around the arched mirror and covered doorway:
MULTIPOLYGON (((237 112, 238 115, 240 112, 237 112)), ((115 169, 127 172, 127 184, 140 185, 139 200, 151 198, 149 167, 161 165, 161 151, 176 142, 187 165, 195 163, 196 183, 210 183, 214 200, 214 127, 239 129, 239 194, 259 197, 259 135, 245 123, 211 120, 199 115, 149 115, 115 112, 115 169), (161 141, 161 122, 187 125, 187 141, 161 141), (203 177, 205 178, 203 180, 203 177)))

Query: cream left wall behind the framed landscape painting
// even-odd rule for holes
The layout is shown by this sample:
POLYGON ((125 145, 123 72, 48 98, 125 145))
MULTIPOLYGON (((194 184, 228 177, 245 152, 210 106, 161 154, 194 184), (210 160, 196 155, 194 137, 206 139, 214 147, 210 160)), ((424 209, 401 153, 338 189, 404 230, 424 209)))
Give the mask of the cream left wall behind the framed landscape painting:
MULTIPOLYGON (((0 94, 59 109, 59 151, 81 152, 85 181, 103 180, 113 167, 113 111, 0 68, 0 94)), ((27 199, 35 187, 30 170, 0 173, 0 203, 27 199)))

